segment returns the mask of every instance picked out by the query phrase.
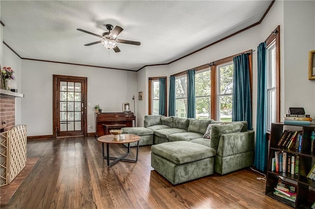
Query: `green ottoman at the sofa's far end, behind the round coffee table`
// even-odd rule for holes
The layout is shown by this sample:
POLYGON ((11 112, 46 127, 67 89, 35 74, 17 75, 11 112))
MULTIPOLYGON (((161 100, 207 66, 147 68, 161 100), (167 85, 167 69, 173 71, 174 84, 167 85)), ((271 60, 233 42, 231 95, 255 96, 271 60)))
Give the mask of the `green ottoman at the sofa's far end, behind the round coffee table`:
MULTIPOLYGON (((153 144, 153 131, 144 127, 126 127, 122 128, 123 133, 129 133, 138 135, 141 137, 139 146, 152 145, 153 144)), ((128 144, 124 144, 126 147, 128 144)), ((130 143, 130 147, 136 147, 137 142, 130 143)))

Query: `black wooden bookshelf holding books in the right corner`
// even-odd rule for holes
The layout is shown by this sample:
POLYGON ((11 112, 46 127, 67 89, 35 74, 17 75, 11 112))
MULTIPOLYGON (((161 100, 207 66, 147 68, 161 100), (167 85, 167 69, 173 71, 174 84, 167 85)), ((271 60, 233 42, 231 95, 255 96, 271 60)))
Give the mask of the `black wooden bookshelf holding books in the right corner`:
POLYGON ((311 192, 313 193, 311 190, 315 188, 315 180, 306 177, 315 164, 315 155, 310 151, 310 137, 313 130, 315 130, 315 125, 284 125, 284 123, 273 123, 271 125, 265 194, 292 208, 311 208, 311 205, 315 201, 309 195, 311 192), (277 146, 277 142, 285 129, 302 131, 302 149, 300 152, 297 149, 287 149, 277 146), (275 152, 277 151, 299 156, 297 175, 272 171, 272 158, 275 157, 275 152), (284 179, 284 182, 288 182, 288 184, 296 187, 297 195, 295 202, 273 194, 274 188, 277 186, 280 178, 284 179))

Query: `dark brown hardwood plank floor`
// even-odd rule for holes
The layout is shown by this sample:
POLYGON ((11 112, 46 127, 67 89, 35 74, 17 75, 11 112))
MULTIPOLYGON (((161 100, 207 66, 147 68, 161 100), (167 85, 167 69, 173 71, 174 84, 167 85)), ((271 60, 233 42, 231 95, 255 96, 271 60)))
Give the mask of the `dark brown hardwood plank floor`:
MULTIPOLYGON (((39 160, 1 209, 289 208, 264 195, 265 181, 250 169, 173 186, 150 166, 150 148, 140 147, 137 163, 107 167, 94 137, 28 141, 27 157, 39 160)), ((123 145, 110 150, 126 152, 123 145)))

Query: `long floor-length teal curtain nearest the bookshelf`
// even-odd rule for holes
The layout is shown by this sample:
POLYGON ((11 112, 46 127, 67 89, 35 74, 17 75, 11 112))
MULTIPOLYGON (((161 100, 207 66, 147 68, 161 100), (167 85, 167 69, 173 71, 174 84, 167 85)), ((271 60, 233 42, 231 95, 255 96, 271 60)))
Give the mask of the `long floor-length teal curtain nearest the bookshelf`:
POLYGON ((254 166, 261 170, 267 170, 268 141, 266 137, 267 123, 267 65, 266 42, 257 47, 257 125, 254 166))

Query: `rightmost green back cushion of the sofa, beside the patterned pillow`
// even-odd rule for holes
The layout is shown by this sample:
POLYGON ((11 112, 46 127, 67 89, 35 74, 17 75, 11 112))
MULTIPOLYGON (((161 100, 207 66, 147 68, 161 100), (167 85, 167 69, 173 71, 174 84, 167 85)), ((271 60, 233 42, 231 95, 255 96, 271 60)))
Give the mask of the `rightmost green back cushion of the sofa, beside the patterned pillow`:
POLYGON ((210 134, 210 147, 217 150, 219 145, 219 140, 222 134, 225 133, 237 133, 241 132, 244 127, 243 123, 234 122, 224 125, 212 125, 210 134))

